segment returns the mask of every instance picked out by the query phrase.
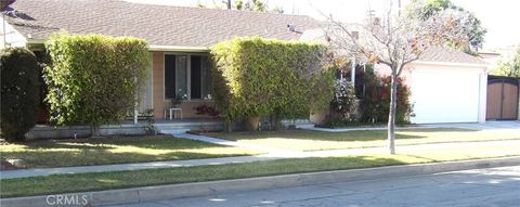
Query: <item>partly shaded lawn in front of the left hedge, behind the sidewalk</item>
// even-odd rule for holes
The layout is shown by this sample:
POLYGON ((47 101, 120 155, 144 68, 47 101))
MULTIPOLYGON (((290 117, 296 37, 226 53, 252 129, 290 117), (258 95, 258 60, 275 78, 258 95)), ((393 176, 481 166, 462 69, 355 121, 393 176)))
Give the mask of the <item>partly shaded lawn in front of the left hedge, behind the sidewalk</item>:
POLYGON ((171 135, 107 137, 0 144, 0 158, 25 160, 28 168, 243 156, 257 152, 171 135))

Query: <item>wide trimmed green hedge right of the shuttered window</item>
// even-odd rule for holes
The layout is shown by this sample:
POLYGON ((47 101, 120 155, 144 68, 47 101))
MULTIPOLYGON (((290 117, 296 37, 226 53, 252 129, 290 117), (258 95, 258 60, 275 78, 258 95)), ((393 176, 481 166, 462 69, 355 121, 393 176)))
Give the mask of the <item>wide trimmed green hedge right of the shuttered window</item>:
POLYGON ((236 38, 211 48, 214 100, 229 121, 274 115, 309 117, 328 105, 333 75, 318 43, 236 38))

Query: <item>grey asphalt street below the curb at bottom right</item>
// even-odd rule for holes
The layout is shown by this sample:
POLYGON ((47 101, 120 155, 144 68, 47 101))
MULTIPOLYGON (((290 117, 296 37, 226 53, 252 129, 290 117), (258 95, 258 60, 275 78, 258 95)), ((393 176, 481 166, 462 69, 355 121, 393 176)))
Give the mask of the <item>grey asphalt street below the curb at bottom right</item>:
MULTIPOLYGON (((129 207, 518 206, 520 166, 161 200, 129 207)), ((122 207, 122 206, 121 206, 122 207)))

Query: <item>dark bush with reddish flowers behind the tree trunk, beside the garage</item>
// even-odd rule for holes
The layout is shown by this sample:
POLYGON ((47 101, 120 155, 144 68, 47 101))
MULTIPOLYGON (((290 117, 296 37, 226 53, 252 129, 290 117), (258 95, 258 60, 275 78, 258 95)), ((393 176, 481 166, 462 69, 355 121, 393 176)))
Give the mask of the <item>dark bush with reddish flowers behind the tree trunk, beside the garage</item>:
MULTIPOLYGON (((365 72, 365 94, 360 103, 361 121, 386 122, 390 111, 390 77, 378 77, 374 70, 367 68, 365 72)), ((398 109, 395 122, 407 124, 412 115, 410 103, 410 88, 398 80, 398 109)))

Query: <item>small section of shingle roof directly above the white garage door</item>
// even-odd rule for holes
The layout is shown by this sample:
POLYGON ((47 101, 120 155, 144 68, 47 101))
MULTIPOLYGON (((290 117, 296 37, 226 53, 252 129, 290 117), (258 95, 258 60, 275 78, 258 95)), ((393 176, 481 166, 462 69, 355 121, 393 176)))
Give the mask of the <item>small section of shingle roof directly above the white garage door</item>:
POLYGON ((478 64, 487 65, 487 63, 478 57, 450 48, 430 48, 422 53, 419 59, 424 62, 457 63, 457 64, 478 64))

